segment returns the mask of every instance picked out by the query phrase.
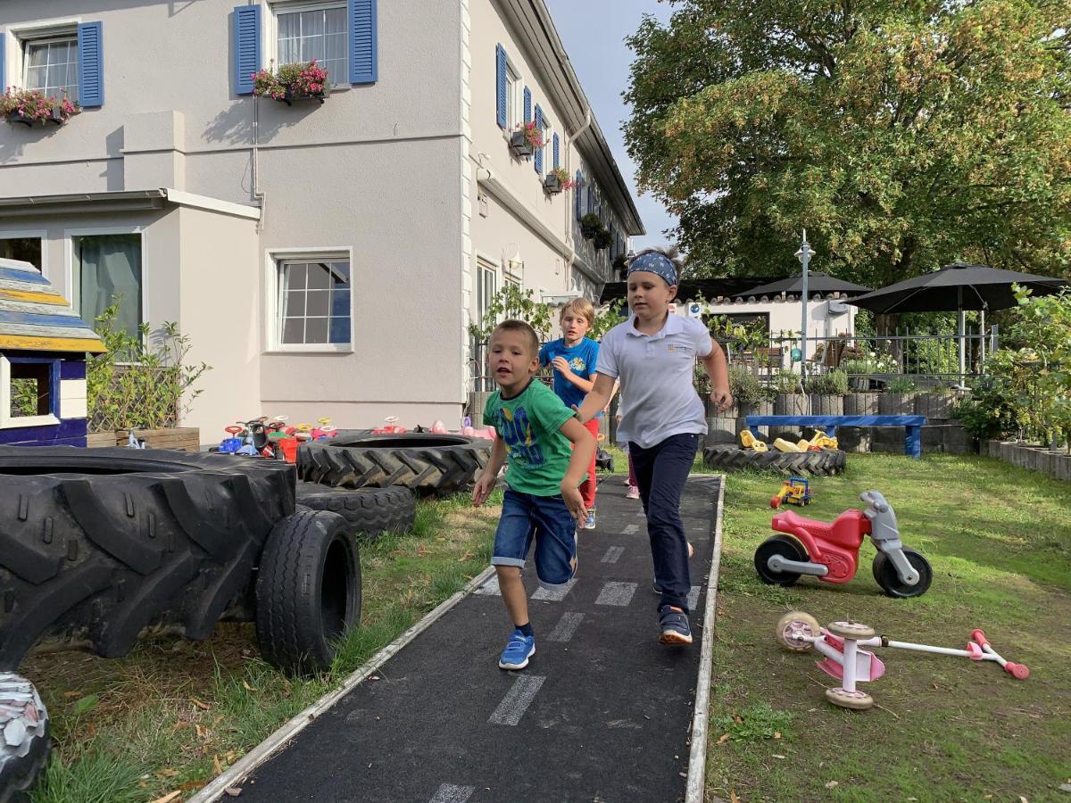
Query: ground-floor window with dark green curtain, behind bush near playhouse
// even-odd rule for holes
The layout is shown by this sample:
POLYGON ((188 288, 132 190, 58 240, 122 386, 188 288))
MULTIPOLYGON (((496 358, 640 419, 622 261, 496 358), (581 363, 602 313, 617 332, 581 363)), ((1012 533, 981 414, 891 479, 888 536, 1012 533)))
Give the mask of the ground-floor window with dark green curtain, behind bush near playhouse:
POLYGON ((115 329, 138 336, 141 309, 141 236, 85 234, 72 238, 71 298, 75 312, 92 325, 112 303, 115 329))

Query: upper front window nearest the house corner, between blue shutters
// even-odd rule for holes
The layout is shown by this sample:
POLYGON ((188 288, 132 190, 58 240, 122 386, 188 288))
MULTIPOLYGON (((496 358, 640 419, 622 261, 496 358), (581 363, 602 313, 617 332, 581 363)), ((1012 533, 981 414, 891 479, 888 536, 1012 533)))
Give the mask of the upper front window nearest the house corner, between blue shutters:
POLYGON ((332 86, 349 77, 348 29, 345 4, 319 5, 275 13, 278 30, 275 64, 312 61, 328 71, 332 86))

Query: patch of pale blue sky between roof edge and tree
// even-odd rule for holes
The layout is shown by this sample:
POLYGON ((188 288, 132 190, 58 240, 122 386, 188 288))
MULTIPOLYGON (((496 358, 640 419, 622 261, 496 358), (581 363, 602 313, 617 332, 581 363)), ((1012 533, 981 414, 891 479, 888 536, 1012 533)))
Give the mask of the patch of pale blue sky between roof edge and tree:
POLYGON ((624 150, 624 137, 621 134, 621 123, 629 117, 629 107, 621 100, 621 92, 629 84, 629 66, 633 58, 632 50, 624 44, 624 37, 636 32, 644 14, 651 14, 667 22, 669 6, 658 0, 545 2, 603 136, 632 190, 639 219, 647 229, 646 237, 633 238, 632 247, 639 251, 663 244, 667 241, 662 232, 674 226, 676 221, 659 201, 649 195, 639 195, 636 191, 636 166, 624 150))

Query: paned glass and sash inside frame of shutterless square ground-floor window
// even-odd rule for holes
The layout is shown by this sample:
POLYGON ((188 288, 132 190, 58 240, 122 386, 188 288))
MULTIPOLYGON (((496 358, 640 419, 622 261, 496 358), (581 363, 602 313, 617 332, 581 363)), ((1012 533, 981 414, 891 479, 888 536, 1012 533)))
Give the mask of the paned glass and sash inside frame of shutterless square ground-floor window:
POLYGON ((349 310, 349 260, 278 262, 281 346, 348 346, 352 340, 349 310))

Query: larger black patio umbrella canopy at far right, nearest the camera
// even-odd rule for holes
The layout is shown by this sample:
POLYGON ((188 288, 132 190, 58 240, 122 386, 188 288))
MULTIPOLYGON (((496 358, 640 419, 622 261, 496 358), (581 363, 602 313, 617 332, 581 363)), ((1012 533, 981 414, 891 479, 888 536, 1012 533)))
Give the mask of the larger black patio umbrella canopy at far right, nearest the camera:
POLYGON ((1059 292, 1067 282, 1052 276, 1005 271, 986 264, 955 262, 907 278, 851 300, 875 313, 962 313, 965 309, 1007 309, 1015 306, 1013 284, 1036 296, 1059 292))

